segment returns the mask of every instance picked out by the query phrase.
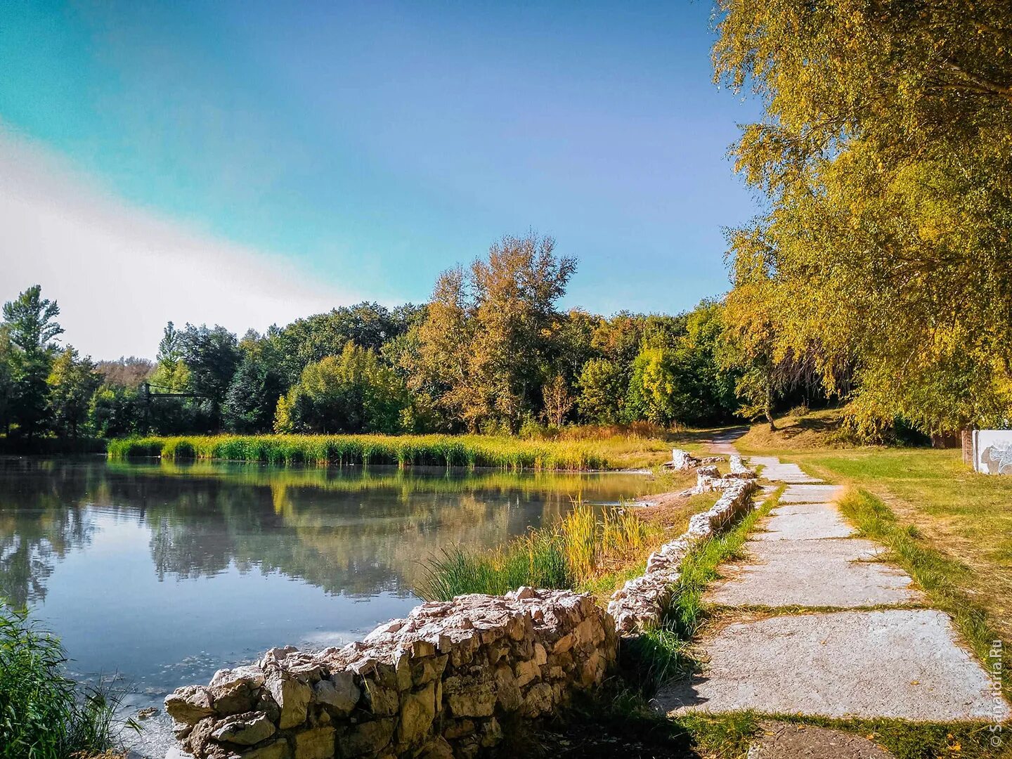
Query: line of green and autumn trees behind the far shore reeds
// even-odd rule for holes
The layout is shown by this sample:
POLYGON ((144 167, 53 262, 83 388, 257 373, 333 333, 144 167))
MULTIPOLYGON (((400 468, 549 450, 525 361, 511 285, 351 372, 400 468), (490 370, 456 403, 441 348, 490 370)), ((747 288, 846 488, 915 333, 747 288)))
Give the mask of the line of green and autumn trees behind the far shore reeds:
POLYGON ((443 272, 425 305, 339 307, 241 338, 170 322, 155 361, 60 345, 59 307, 34 285, 4 306, 0 429, 515 434, 736 415, 743 371, 720 301, 675 316, 564 311, 575 271, 551 238, 506 237, 443 272))

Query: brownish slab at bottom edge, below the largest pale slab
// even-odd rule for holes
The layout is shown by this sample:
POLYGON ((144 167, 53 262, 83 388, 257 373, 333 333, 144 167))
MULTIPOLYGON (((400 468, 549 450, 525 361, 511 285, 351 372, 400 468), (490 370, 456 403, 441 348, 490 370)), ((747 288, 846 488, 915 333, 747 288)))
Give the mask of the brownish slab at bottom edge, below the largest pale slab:
POLYGON ((814 725, 765 722, 746 759, 893 759, 863 736, 814 725))

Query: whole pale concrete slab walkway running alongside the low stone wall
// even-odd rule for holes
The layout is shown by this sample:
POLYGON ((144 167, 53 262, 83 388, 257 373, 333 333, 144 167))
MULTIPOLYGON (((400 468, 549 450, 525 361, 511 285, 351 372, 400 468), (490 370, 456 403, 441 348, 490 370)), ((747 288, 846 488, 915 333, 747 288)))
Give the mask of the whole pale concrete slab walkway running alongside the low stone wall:
MULTIPOLYGON (((722 452, 731 444, 722 440, 722 452)), ((707 591, 723 608, 698 643, 702 671, 663 688, 657 708, 916 722, 1012 715, 948 616, 878 561, 880 545, 853 536, 835 504, 841 488, 774 457, 750 460, 787 487, 746 543, 747 560, 725 565, 707 591)))

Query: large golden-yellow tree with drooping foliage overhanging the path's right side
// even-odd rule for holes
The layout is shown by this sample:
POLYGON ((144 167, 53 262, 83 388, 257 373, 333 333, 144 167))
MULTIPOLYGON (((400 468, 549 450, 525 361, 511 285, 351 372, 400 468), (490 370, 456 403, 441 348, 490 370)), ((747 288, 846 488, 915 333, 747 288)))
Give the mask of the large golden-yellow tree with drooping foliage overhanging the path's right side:
POLYGON ((732 236, 748 321, 773 327, 742 340, 753 401, 811 371, 864 426, 1012 415, 1008 3, 721 0, 716 17, 716 79, 764 106, 734 148, 768 198, 732 236))

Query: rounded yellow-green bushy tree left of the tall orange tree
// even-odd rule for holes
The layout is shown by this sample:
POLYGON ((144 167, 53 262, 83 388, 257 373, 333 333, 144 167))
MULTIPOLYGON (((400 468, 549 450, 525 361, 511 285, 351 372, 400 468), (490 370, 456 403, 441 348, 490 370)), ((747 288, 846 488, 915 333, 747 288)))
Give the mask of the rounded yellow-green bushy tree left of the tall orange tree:
POLYGON ((411 399, 375 351, 347 343, 340 356, 311 363, 277 404, 277 432, 386 432, 402 429, 411 399))

